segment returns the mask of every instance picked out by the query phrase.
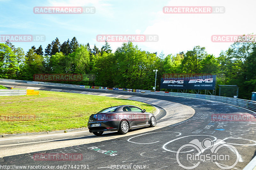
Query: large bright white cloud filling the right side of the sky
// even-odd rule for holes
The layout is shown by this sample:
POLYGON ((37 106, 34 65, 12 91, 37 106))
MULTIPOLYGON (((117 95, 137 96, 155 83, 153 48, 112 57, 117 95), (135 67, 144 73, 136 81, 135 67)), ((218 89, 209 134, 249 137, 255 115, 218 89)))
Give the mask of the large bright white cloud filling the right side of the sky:
MULTIPOLYGON (((248 4, 255 4, 250 0, 248 4)), ((164 14, 155 12, 154 24, 148 26, 143 34, 157 34, 158 42, 142 43, 147 49, 162 50, 165 54, 179 53, 204 46, 208 53, 219 56, 221 50, 227 50, 232 43, 214 43, 211 36, 216 34, 247 34, 255 32, 256 23, 252 22, 256 14, 254 5, 241 8, 242 1, 178 1, 172 0, 165 6, 224 6, 224 14, 164 14)), ((161 9, 162 10, 162 9, 161 9)))

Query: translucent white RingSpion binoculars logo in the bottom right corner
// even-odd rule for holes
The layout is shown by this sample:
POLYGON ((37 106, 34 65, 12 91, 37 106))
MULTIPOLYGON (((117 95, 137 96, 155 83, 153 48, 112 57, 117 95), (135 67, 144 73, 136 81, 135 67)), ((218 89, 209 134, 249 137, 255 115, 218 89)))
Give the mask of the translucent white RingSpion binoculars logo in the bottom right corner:
POLYGON ((210 138, 205 138, 202 142, 198 139, 191 140, 176 153, 177 162, 184 169, 194 169, 205 162, 214 162, 221 169, 231 169, 238 163, 239 156, 233 145, 222 139, 210 138))

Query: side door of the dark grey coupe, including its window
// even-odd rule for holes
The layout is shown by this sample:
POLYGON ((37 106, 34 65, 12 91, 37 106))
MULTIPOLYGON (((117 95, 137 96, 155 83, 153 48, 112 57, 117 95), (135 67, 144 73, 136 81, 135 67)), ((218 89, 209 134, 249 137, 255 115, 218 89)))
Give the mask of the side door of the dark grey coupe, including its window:
POLYGON ((134 107, 134 106, 129 106, 129 108, 132 110, 135 118, 135 123, 136 125, 143 125, 147 124, 149 121, 149 114, 146 112, 144 113, 140 108, 134 107))

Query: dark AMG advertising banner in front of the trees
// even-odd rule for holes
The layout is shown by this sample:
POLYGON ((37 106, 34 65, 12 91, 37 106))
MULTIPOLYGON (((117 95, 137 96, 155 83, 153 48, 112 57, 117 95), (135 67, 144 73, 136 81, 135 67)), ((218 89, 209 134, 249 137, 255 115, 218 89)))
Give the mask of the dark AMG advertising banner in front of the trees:
POLYGON ((214 90, 216 75, 171 77, 161 79, 161 89, 214 90))

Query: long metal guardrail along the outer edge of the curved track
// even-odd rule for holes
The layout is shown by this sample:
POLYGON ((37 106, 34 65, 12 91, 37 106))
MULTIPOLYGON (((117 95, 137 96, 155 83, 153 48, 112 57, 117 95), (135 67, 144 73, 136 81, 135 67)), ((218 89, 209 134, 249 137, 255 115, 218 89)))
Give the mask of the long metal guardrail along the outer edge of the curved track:
POLYGON ((45 85, 66 86, 66 87, 79 87, 79 88, 92 88, 92 89, 108 89, 108 90, 119 90, 119 91, 130 91, 130 92, 141 92, 141 93, 151 93, 151 94, 153 93, 153 94, 161 94, 161 95, 169 95, 169 96, 189 97, 189 98, 205 99, 205 100, 232 104, 232 105, 240 106, 252 111, 256 111, 256 101, 222 97, 222 96, 199 95, 199 94, 191 94, 191 93, 175 93, 175 92, 164 92, 164 91, 154 92, 152 90, 83 86, 83 85, 49 83, 49 82, 40 82, 40 81, 24 81, 24 80, 10 80, 10 79, 0 79, 0 81, 19 82, 19 83, 28 83, 28 84, 45 84, 45 85))

